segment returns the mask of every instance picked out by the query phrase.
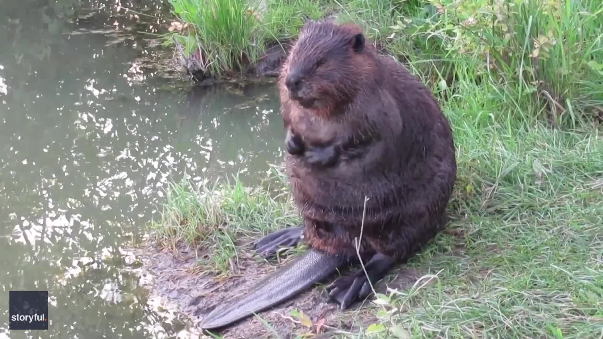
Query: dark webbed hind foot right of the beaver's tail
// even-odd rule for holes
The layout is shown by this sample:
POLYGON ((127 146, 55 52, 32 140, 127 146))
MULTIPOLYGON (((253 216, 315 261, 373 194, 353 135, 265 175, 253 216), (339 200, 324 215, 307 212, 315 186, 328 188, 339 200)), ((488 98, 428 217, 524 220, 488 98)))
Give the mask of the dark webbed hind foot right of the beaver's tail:
POLYGON ((371 284, 381 280, 395 264, 396 261, 391 256, 377 253, 365 265, 366 274, 361 269, 356 274, 338 277, 327 286, 329 299, 338 302, 341 309, 365 299, 372 292, 371 284))

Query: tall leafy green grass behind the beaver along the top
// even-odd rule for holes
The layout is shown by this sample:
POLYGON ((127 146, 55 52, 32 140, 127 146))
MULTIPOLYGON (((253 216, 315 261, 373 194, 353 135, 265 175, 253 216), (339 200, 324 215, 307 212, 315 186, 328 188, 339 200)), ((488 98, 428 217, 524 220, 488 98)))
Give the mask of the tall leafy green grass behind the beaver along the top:
POLYGON ((603 116, 603 4, 598 0, 170 0, 172 37, 220 77, 295 39, 306 18, 364 27, 443 99, 467 86, 493 101, 483 119, 603 116), (181 28, 181 27, 178 27, 181 28), (173 35, 173 36, 172 36, 173 35))

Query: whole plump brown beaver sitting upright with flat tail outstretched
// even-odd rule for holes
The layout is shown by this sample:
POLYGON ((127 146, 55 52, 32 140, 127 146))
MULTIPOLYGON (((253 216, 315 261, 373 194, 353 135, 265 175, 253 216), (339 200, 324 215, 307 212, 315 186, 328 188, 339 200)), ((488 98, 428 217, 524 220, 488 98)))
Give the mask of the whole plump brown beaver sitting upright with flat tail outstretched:
POLYGON ((301 239, 309 250, 214 309, 205 329, 276 305, 362 260, 364 270, 327 286, 346 309, 447 223, 456 182, 449 121, 428 87, 379 54, 358 25, 308 22, 278 89, 286 172, 303 224, 268 234, 256 250, 271 256, 301 239))

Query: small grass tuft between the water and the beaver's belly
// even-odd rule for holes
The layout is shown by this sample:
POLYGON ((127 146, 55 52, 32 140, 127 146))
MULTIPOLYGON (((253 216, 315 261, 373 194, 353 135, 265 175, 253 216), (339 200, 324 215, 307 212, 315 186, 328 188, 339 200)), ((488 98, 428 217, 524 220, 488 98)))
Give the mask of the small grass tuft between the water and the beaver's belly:
POLYGON ((159 246, 174 253, 183 244, 194 247, 201 268, 229 274, 241 245, 300 220, 286 192, 248 188, 235 177, 198 187, 188 180, 170 183, 160 217, 148 228, 159 246))

